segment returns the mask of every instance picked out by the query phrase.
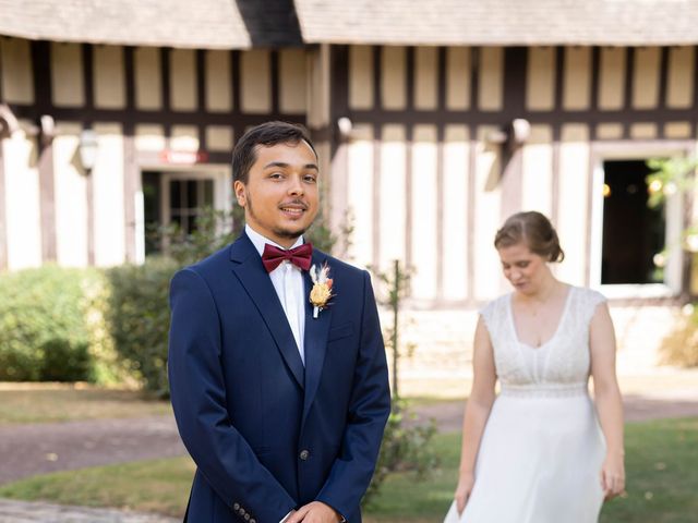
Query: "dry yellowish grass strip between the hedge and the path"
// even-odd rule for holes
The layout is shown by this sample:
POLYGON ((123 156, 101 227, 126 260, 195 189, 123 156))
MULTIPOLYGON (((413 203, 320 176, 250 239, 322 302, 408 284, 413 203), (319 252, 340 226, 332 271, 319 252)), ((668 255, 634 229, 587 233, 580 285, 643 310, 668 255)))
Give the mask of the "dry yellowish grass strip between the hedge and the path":
POLYGON ((167 401, 135 390, 84 384, 0 384, 0 425, 139 417, 171 413, 167 401))

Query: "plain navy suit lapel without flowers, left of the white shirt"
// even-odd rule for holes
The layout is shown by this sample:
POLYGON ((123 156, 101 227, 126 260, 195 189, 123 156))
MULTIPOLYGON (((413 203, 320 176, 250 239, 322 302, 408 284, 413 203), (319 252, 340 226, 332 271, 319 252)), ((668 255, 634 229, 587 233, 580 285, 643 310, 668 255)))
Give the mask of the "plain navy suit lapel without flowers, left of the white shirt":
MULTIPOLYGON (((305 386, 303 362, 298 352, 293 332, 288 325, 284 307, 281 307, 281 302, 274 290, 269 275, 264 269, 260 255, 246 234, 242 234, 231 245, 230 259, 232 260, 233 273, 260 311, 296 381, 303 388, 305 386)), ((308 333, 308 330, 305 332, 308 333)))

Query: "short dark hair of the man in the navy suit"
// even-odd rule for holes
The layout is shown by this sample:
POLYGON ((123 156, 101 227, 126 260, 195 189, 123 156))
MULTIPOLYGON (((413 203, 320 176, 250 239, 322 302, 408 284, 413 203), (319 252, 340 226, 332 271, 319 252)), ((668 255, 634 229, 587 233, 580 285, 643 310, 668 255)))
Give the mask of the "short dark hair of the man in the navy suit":
POLYGON ((305 142, 317 158, 317 151, 310 139, 308 130, 297 123, 265 122, 244 133, 232 150, 232 180, 248 184, 250 169, 257 159, 257 146, 272 147, 277 144, 299 144, 305 142))

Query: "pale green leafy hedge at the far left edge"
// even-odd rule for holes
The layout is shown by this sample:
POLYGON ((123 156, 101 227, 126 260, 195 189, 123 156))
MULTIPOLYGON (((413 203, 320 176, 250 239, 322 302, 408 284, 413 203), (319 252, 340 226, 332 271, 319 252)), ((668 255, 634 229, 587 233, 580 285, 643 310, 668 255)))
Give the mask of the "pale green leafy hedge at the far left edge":
POLYGON ((0 276, 0 380, 93 379, 85 289, 98 280, 55 266, 0 276))

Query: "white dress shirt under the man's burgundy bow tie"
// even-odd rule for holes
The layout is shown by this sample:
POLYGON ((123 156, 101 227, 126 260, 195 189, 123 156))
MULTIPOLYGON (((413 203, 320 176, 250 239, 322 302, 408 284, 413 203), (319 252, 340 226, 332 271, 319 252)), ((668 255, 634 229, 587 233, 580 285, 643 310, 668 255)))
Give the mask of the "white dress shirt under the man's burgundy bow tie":
MULTIPOLYGON (((267 243, 287 251, 286 247, 263 236, 249 224, 244 226, 244 232, 252 241, 254 248, 260 253, 260 256, 264 253, 264 245, 267 243)), ((303 236, 299 236, 291 248, 302 244, 303 236)), ((303 350, 303 335, 305 332, 305 288, 303 285, 302 271, 290 262, 284 260, 276 269, 269 272, 269 278, 276 295, 279 296, 279 302, 281 302, 281 307, 284 307, 284 312, 286 313, 286 319, 288 319, 291 332, 293 332, 293 339, 296 340, 298 352, 301 355, 301 361, 303 365, 305 365, 305 352, 303 350)))

